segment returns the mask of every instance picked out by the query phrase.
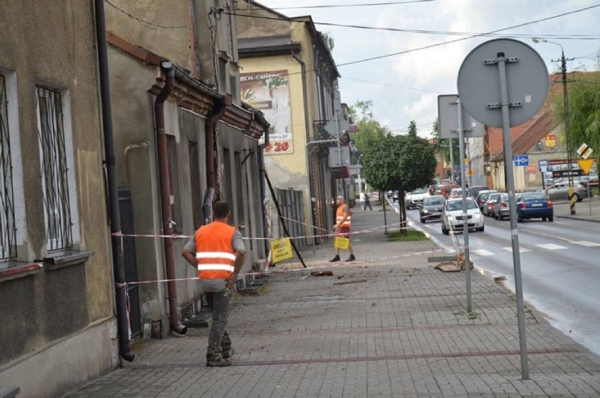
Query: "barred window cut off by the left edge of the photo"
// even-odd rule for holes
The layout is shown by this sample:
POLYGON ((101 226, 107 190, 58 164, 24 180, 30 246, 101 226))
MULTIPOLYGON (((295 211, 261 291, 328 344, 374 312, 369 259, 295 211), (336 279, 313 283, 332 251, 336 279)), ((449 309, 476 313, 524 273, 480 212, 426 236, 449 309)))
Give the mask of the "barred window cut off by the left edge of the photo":
POLYGON ((0 75, 0 260, 17 255, 14 203, 6 79, 0 75))

